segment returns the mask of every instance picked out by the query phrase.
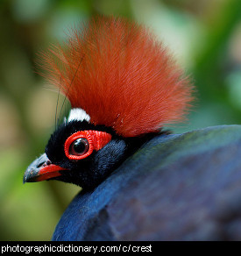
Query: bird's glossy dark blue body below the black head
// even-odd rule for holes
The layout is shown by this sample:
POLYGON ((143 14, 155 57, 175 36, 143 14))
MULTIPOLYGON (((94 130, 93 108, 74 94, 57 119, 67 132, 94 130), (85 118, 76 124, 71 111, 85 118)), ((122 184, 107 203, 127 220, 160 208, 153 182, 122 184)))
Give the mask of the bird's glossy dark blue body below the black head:
POLYGON ((151 139, 67 207, 53 240, 240 240, 241 126, 151 139))

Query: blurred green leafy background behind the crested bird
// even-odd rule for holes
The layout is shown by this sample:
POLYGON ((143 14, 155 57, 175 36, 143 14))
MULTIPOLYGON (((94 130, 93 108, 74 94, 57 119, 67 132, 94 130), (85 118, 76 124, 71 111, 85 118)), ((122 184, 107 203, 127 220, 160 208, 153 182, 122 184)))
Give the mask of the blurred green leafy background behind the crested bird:
POLYGON ((150 26, 192 76, 198 101, 174 132, 241 124, 240 0, 0 0, 1 240, 51 239, 80 190, 22 179, 54 130, 58 96, 37 74, 36 54, 95 14, 150 26))

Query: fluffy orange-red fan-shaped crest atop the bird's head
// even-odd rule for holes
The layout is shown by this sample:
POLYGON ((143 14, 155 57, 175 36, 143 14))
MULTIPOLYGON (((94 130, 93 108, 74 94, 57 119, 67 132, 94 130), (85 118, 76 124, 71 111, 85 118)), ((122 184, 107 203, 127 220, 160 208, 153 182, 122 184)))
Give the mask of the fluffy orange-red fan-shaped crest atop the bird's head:
POLYGON ((92 19, 43 57, 48 78, 73 108, 124 137, 182 121, 192 101, 192 86, 172 56, 124 18, 92 19))

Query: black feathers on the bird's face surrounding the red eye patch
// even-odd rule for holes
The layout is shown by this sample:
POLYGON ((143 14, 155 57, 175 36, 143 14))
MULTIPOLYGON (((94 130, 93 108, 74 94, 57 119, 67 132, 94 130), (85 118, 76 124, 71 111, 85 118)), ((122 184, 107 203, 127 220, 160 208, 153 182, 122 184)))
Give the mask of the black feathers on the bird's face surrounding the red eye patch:
POLYGON ((61 175, 53 179, 74 183, 82 188, 94 188, 115 170, 131 153, 135 152, 145 141, 152 139, 157 133, 148 133, 142 137, 122 138, 110 127, 89 124, 87 121, 65 122, 53 132, 46 145, 46 155, 55 165, 67 170, 60 171, 61 175), (82 160, 69 160, 64 153, 67 138, 79 131, 108 132, 112 138, 110 142, 98 151, 93 151, 82 160))

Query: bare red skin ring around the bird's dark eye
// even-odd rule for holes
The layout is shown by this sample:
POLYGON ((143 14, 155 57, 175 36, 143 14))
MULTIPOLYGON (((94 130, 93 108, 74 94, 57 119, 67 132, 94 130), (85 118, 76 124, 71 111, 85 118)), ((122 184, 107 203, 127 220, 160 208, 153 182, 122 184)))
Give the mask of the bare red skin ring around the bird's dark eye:
POLYGON ((82 160, 84 158, 87 158, 91 153, 93 153, 93 150, 96 151, 103 148, 111 139, 111 135, 107 132, 99 132, 99 131, 79 131, 74 132, 72 135, 70 135, 64 146, 64 152, 68 159, 70 160, 82 160), (89 150, 87 153, 84 153, 82 155, 78 154, 72 154, 71 153, 71 146, 73 145, 74 141, 76 139, 87 139, 89 142, 89 150))

